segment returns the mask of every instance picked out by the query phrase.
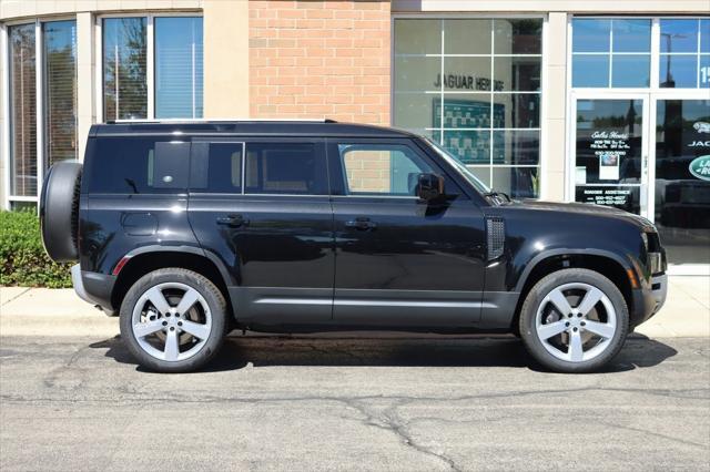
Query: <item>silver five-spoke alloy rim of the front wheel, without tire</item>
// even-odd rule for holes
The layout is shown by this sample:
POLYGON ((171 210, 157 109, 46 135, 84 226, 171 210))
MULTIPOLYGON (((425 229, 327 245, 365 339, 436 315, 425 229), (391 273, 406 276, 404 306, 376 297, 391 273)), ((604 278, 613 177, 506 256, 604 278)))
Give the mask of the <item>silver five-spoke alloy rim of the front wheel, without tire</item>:
POLYGON ((611 345, 617 332, 617 312, 609 297, 597 287, 565 284, 550 290, 538 306, 535 329, 549 353, 565 361, 584 362, 611 345), (577 301, 576 306, 570 301, 577 301))

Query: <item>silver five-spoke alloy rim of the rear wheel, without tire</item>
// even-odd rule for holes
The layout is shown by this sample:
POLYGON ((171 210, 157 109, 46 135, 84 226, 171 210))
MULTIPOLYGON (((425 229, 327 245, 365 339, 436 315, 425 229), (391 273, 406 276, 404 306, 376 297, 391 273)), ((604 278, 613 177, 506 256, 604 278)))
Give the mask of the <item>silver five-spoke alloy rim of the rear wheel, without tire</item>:
POLYGON ((175 362, 189 359, 202 349, 212 331, 212 314, 197 290, 181 283, 165 283, 149 288, 139 297, 131 327, 143 351, 156 359, 175 362), (166 293, 172 295, 166 297, 166 293), (169 299, 179 301, 171 305, 169 299))

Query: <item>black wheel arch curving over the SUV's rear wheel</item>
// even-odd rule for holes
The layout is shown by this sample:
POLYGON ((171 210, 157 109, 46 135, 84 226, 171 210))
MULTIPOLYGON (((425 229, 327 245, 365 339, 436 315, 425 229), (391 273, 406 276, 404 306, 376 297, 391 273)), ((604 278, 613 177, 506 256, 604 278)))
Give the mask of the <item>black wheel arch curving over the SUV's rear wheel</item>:
POLYGON ((179 267, 193 270, 212 281, 224 296, 230 315, 233 315, 230 291, 227 290, 231 280, 229 271, 219 260, 209 257, 200 248, 146 246, 126 254, 124 258, 126 263, 116 276, 111 293, 111 305, 116 310, 120 309, 131 286, 142 276, 161 268, 179 267))

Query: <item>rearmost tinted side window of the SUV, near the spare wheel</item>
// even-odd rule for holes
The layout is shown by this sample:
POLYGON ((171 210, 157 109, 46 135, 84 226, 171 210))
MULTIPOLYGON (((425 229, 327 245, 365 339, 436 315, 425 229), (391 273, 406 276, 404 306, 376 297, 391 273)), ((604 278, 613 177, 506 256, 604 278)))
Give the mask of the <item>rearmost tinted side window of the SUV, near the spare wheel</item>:
POLYGON ((187 188, 190 143, 146 137, 95 140, 89 192, 182 193, 187 188))

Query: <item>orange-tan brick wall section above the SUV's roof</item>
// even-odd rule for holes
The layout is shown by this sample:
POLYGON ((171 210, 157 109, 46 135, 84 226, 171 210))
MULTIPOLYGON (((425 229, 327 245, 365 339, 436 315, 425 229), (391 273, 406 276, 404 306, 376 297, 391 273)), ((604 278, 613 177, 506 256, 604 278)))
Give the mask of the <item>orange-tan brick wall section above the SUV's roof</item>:
POLYGON ((389 124, 389 1, 250 1, 250 115, 389 124))

